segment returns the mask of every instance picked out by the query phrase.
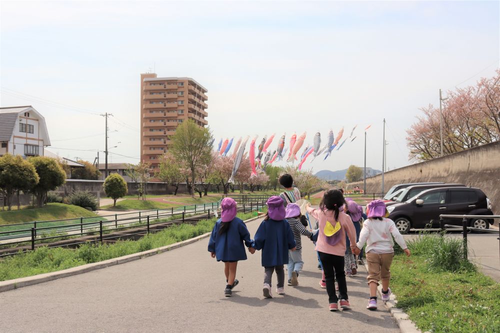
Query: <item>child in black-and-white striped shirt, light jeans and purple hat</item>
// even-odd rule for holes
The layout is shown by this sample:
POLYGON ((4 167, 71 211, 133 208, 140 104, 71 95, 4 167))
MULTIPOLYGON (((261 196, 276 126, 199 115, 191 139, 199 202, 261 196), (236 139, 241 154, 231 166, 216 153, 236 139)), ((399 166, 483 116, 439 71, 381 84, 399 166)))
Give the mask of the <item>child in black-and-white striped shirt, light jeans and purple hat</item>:
POLYGON ((300 223, 300 207, 297 204, 290 203, 286 206, 285 219, 290 225, 295 240, 295 251, 288 251, 288 286, 296 286, 298 285, 298 272, 304 266, 300 235, 312 238, 312 232, 305 229, 302 223, 300 223))

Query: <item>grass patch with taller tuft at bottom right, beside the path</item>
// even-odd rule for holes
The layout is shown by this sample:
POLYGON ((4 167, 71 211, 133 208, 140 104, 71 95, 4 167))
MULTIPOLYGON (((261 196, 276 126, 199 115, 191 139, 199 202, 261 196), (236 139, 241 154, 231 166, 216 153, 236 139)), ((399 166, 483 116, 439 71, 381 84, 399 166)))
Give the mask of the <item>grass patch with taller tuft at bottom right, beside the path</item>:
POLYGON ((500 284, 463 261, 461 240, 422 235, 396 255, 391 289, 422 332, 500 332, 500 284), (453 259, 454 258, 454 259, 453 259))

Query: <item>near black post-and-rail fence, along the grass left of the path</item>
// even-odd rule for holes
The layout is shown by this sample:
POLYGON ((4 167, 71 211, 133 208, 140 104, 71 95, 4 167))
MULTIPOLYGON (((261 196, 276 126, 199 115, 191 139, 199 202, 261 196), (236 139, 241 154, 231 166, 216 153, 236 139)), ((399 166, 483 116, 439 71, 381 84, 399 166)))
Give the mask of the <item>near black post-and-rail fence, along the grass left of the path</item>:
MULTIPOLYGON (((19 230, 19 232, 30 232, 30 237, 28 237, 28 239, 22 239, 22 240, 16 240, 16 239, 20 239, 20 238, 26 238, 26 237, 16 237, 16 238, 11 238, 13 239, 14 241, 13 242, 9 242, 9 243, 3 243, 1 244, 2 247, 4 246, 8 246, 8 245, 19 245, 19 244, 23 244, 23 243, 28 243, 30 244, 30 248, 29 249, 24 249, 24 251, 22 252, 27 252, 29 250, 33 251, 36 247, 35 247, 35 242, 38 241, 47 241, 47 240, 55 240, 57 239, 58 241, 60 240, 67 240, 67 239, 72 239, 72 238, 77 238, 79 236, 93 236, 94 234, 98 233, 98 237, 96 237, 95 239, 91 240, 91 239, 85 239, 85 240, 76 240, 76 242, 73 242, 73 243, 65 243, 65 244, 56 244, 56 245, 53 245, 53 246, 50 246, 50 244, 48 244, 48 248, 54 248, 54 247, 70 247, 70 246, 76 246, 76 245, 79 245, 79 244, 84 244, 84 243, 87 243, 89 241, 94 241, 94 242, 97 242, 99 241, 100 243, 102 243, 103 241, 105 240, 113 240, 113 239, 117 239, 117 238, 126 238, 126 237, 130 237, 130 236, 134 236, 134 235, 146 235, 146 234, 149 234, 150 232, 154 232, 154 231, 159 231, 161 229, 158 229, 158 230, 151 230, 151 226, 154 226, 154 225, 159 225, 159 224, 162 224, 162 225, 171 225, 171 224, 180 224, 180 223, 194 223, 194 222, 197 222, 199 219, 203 218, 204 217, 204 214, 206 213, 206 218, 210 218, 211 215, 210 213, 213 212, 214 210, 216 210, 218 208, 218 203, 217 203, 217 207, 216 208, 206 208, 203 209, 203 210, 197 210, 196 213, 203 213, 203 214, 200 214, 200 215, 195 215, 195 212, 194 211, 188 211, 187 214, 193 214, 192 216, 186 216, 186 211, 181 211, 181 212, 178 212, 178 213, 175 213, 175 212, 168 212, 168 213, 162 213, 162 214, 159 214, 159 210, 156 210, 157 211, 157 214, 156 215, 147 215, 147 216, 144 216, 142 218, 139 217, 139 221, 132 221, 132 220, 135 220, 137 219, 136 217, 129 217, 129 218, 123 218, 123 219, 115 219, 114 221, 111 220, 111 221, 96 221, 96 222, 87 222, 87 223, 78 223, 78 224, 73 224, 73 225, 66 225, 66 227, 76 227, 75 229, 72 229, 72 231, 79 231, 77 233, 72 233, 72 234, 64 234, 64 235, 57 235, 57 233, 62 233, 62 232, 66 232, 67 230, 55 230, 54 232, 54 229, 57 229, 57 228, 60 228, 60 226, 52 226, 52 227, 31 227, 30 229, 23 229, 23 230, 19 230), (153 218, 155 219, 156 222, 152 222, 150 217, 153 216, 153 218), (168 221, 161 221, 160 219, 166 219, 166 218, 172 218, 172 217, 175 217, 175 216, 179 216, 179 218, 174 218, 174 219, 171 219, 171 220, 168 220, 168 221), (144 219, 145 220, 145 223, 142 223, 141 219, 144 219), (119 222, 119 223, 118 223, 119 222), (109 223, 110 226, 113 226, 112 224, 114 223, 114 228, 112 229, 105 229, 105 228, 109 228, 109 225, 106 226, 105 224, 106 223, 109 223), (138 223, 138 224, 137 224, 138 223), (114 232, 114 231, 119 231, 119 230, 126 230, 126 229, 133 229, 133 228, 143 228, 145 227, 146 230, 145 232, 144 231, 139 231, 139 232, 135 232, 135 233, 126 233, 126 234, 120 234, 120 235, 117 235, 117 236, 109 236, 109 237, 105 237, 103 236, 103 234, 107 231, 111 231, 111 232, 114 232), (37 232, 40 232, 43 234, 47 234, 47 233, 50 233, 50 232, 54 232, 55 235, 54 236, 48 236, 48 237, 38 237, 36 236, 37 232)), ((265 201, 256 201, 256 202, 250 202, 250 204, 246 204, 246 203, 243 203, 242 205, 238 205, 239 207, 237 208, 237 211, 239 212, 243 212, 243 213, 247 213, 247 212, 251 212, 253 210, 257 210, 260 208, 263 208, 265 206, 265 201)), ((188 207, 188 206, 187 206, 188 207)), ((154 220, 153 220, 154 221, 154 220)), ((0 232, 0 235, 2 234, 5 234, 5 233, 11 233, 11 231, 4 231, 4 232, 0 232)), ((15 248, 15 247, 12 247, 12 248, 15 248)), ((7 248, 8 249, 8 248, 7 248)), ((17 254, 18 252, 14 252, 14 253, 4 253, 4 254, 0 254, 0 258, 1 257, 6 257, 6 256, 11 256, 11 255, 15 255, 17 254)))

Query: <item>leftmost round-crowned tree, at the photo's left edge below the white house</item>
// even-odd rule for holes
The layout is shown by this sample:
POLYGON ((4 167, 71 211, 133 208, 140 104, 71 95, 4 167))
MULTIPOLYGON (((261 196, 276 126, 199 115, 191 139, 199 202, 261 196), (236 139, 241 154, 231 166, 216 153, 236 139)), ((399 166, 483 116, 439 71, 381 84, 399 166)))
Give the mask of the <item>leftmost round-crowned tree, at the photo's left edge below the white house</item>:
POLYGON ((5 154, 0 157, 0 188, 5 194, 8 210, 12 208, 12 196, 19 191, 27 192, 39 181, 32 164, 19 155, 5 154))

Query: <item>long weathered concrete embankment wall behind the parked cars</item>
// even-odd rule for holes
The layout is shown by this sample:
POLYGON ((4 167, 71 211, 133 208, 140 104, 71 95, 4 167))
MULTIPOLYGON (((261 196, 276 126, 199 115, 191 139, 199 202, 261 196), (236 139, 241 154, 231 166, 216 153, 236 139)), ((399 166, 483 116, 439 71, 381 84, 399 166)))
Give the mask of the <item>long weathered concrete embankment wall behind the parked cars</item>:
MULTIPOLYGON (((384 174, 384 192, 401 183, 460 183, 481 189, 500 214, 500 142, 488 143, 430 161, 391 170, 384 174)), ((363 188, 363 181, 348 184, 363 188)), ((366 192, 382 192, 382 176, 366 179, 366 192)), ((495 224, 498 223, 496 220, 495 224)))

